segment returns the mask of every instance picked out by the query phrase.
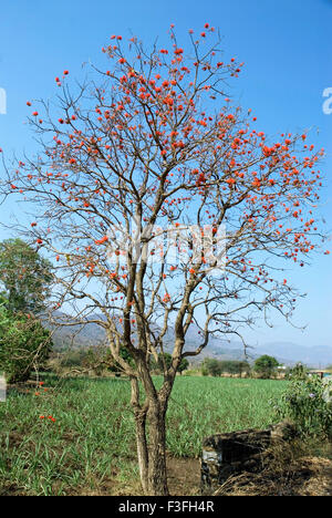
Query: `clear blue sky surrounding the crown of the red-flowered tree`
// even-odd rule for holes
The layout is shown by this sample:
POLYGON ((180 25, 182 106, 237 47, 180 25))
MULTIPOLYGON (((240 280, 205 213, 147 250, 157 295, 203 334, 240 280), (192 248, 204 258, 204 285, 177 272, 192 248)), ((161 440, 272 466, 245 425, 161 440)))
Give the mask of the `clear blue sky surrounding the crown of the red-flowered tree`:
MULTIPOLYGON (((146 43, 156 38, 162 43, 175 23, 185 44, 188 29, 200 30, 205 22, 220 29, 226 56, 246 63, 231 94, 253 110, 260 128, 271 135, 312 128, 311 142, 326 149, 322 214, 331 229, 332 114, 322 110, 323 91, 332 87, 330 0, 6 2, 0 19, 0 89, 7 93, 7 114, 0 114, 0 147, 7 154, 35 148, 24 123, 27 100, 54 97, 54 77, 65 69, 75 76, 82 74, 83 62, 103 63, 101 48, 111 34, 125 37, 132 31, 146 43)), ((1 220, 7 221, 10 213, 20 215, 20 208, 0 207, 1 220)), ((0 229, 0 239, 6 237, 0 229)), ((260 327, 248 332, 248 340, 332 345, 331 256, 314 257, 310 268, 292 269, 288 278, 308 292, 294 319, 299 325, 308 324, 307 330, 276 321, 273 330, 260 327)))

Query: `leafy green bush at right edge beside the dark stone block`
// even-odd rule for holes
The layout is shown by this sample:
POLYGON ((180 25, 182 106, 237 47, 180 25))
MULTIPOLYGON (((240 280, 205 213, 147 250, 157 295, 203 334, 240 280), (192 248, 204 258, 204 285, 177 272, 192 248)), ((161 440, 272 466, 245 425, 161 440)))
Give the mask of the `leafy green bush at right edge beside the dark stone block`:
MULTIPOLYGON (((329 387, 332 391, 331 382, 329 387)), ((332 406, 326 401, 326 384, 318 376, 292 380, 276 410, 279 417, 291 418, 302 436, 331 436, 332 406)))

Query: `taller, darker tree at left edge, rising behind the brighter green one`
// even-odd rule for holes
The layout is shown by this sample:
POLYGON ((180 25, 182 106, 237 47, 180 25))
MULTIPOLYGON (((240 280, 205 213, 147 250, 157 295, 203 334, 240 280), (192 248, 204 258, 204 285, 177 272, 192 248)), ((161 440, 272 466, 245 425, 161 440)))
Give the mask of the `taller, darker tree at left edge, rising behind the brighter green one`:
POLYGON ((0 283, 8 309, 39 313, 45 307, 52 281, 51 263, 21 239, 0 244, 0 283))

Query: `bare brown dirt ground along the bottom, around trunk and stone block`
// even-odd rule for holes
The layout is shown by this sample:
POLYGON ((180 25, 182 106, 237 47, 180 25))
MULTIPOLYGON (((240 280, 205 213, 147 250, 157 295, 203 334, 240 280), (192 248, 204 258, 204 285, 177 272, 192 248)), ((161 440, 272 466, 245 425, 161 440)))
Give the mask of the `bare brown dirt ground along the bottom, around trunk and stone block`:
MULTIPOLYGON (((195 458, 167 460, 168 487, 172 496, 200 495, 200 465, 195 458)), ((142 495, 139 481, 131 485, 105 480, 97 489, 84 487, 73 490, 73 496, 134 496, 142 495)), ((303 457, 280 473, 242 473, 229 477, 222 486, 210 493, 214 496, 332 496, 332 460, 322 457, 303 457)), ((2 488, 0 496, 24 496, 14 485, 2 488)))

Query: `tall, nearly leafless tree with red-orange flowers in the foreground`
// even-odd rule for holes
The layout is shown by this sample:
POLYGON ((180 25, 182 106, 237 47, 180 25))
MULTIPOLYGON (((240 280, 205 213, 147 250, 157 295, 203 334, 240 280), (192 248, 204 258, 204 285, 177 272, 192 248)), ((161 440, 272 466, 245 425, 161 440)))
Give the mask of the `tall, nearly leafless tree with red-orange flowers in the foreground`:
POLYGON ((297 291, 282 269, 303 266, 320 237, 323 152, 305 134, 269 139, 230 102, 242 63, 221 61, 214 28, 190 31, 186 52, 172 28, 170 43, 147 50, 113 35, 108 70, 72 86, 64 71, 59 103, 41 101, 29 117, 37 157, 6 162, 1 186, 34 203, 31 244, 56 261, 53 308, 72 303, 77 321, 104 328, 131 379, 147 495, 168 494, 165 418, 183 359, 212 334, 241 338, 259 314, 290 319, 297 291), (189 330, 200 341, 185 350, 189 330), (169 336, 156 387, 151 359, 169 336))

